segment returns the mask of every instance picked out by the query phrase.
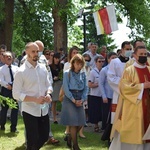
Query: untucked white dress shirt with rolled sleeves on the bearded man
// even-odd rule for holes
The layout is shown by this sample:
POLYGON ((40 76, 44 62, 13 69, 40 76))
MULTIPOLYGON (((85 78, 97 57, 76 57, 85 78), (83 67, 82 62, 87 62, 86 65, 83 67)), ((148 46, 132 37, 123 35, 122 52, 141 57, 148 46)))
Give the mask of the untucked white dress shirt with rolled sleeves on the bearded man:
POLYGON ((24 101, 26 96, 40 97, 45 96, 47 90, 52 90, 49 81, 48 71, 40 63, 33 67, 27 60, 19 68, 14 77, 13 97, 22 101, 21 111, 33 116, 40 117, 48 114, 49 105, 41 107, 41 104, 24 101))

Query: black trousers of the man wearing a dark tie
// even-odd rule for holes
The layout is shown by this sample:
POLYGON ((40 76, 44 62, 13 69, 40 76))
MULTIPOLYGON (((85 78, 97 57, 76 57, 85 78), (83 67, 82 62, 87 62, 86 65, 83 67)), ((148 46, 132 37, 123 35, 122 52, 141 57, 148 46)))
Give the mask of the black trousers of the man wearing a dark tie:
MULTIPOLYGON (((12 98, 12 91, 8 90, 4 87, 2 87, 2 93, 3 96, 5 97, 9 97, 12 98)), ((14 100, 12 98, 12 100, 14 100)), ((16 101, 16 100, 14 100, 16 101)), ((6 124, 6 119, 7 119, 7 111, 9 109, 9 106, 6 104, 6 102, 3 102, 4 105, 1 105, 1 128, 5 128, 5 124, 6 124)), ((11 131, 16 131, 16 126, 17 126, 17 121, 18 121, 18 103, 17 104, 17 109, 11 109, 11 126, 10 126, 10 130, 11 131)))

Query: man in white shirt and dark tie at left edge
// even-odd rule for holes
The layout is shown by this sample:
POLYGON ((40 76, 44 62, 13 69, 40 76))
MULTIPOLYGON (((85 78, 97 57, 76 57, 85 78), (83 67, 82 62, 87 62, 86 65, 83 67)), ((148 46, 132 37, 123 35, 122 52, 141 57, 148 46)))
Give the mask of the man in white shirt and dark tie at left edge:
MULTIPOLYGON (((15 72, 17 72, 18 67, 15 65, 12 65, 13 62, 13 56, 11 52, 3 52, 3 61, 4 65, 0 67, 0 85, 2 87, 1 89, 1 95, 4 97, 12 98, 12 85, 13 85, 13 76, 15 72)), ((14 100, 16 102, 16 100, 14 100)), ((6 102, 3 102, 4 105, 2 105, 1 110, 1 130, 5 130, 5 124, 7 119, 7 111, 9 109, 9 106, 6 102)), ((18 104, 17 109, 13 108, 11 109, 11 125, 10 125, 10 131, 11 132, 18 132, 17 131, 17 120, 18 120, 18 104)))

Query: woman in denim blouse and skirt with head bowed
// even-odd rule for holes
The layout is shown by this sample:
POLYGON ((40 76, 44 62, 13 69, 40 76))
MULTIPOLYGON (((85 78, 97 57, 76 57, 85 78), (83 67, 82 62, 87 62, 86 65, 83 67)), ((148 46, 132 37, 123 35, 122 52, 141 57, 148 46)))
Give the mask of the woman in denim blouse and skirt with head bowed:
POLYGON ((80 150, 77 133, 85 124, 83 102, 87 99, 87 82, 85 73, 81 71, 85 61, 82 55, 76 54, 71 59, 71 68, 64 72, 63 89, 65 92, 62 102, 60 123, 70 128, 67 145, 73 150, 80 150))

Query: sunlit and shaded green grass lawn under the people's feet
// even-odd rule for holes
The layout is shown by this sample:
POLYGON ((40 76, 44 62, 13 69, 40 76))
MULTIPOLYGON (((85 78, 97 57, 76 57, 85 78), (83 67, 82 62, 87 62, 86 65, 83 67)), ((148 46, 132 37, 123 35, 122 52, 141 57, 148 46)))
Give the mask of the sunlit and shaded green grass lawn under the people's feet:
MULTIPOLYGON (((64 139, 65 127, 51 124, 54 137, 60 140, 58 145, 44 145, 41 150, 69 150, 64 139)), ((92 127, 91 127, 92 128, 92 127)), ((10 133, 10 121, 7 121, 5 132, 0 131, 0 150, 25 150, 24 147, 24 124, 19 116, 17 129, 19 134, 10 133)), ((79 138, 79 145, 82 150, 108 150, 107 143, 101 141, 101 134, 84 132, 86 139, 79 138)))

